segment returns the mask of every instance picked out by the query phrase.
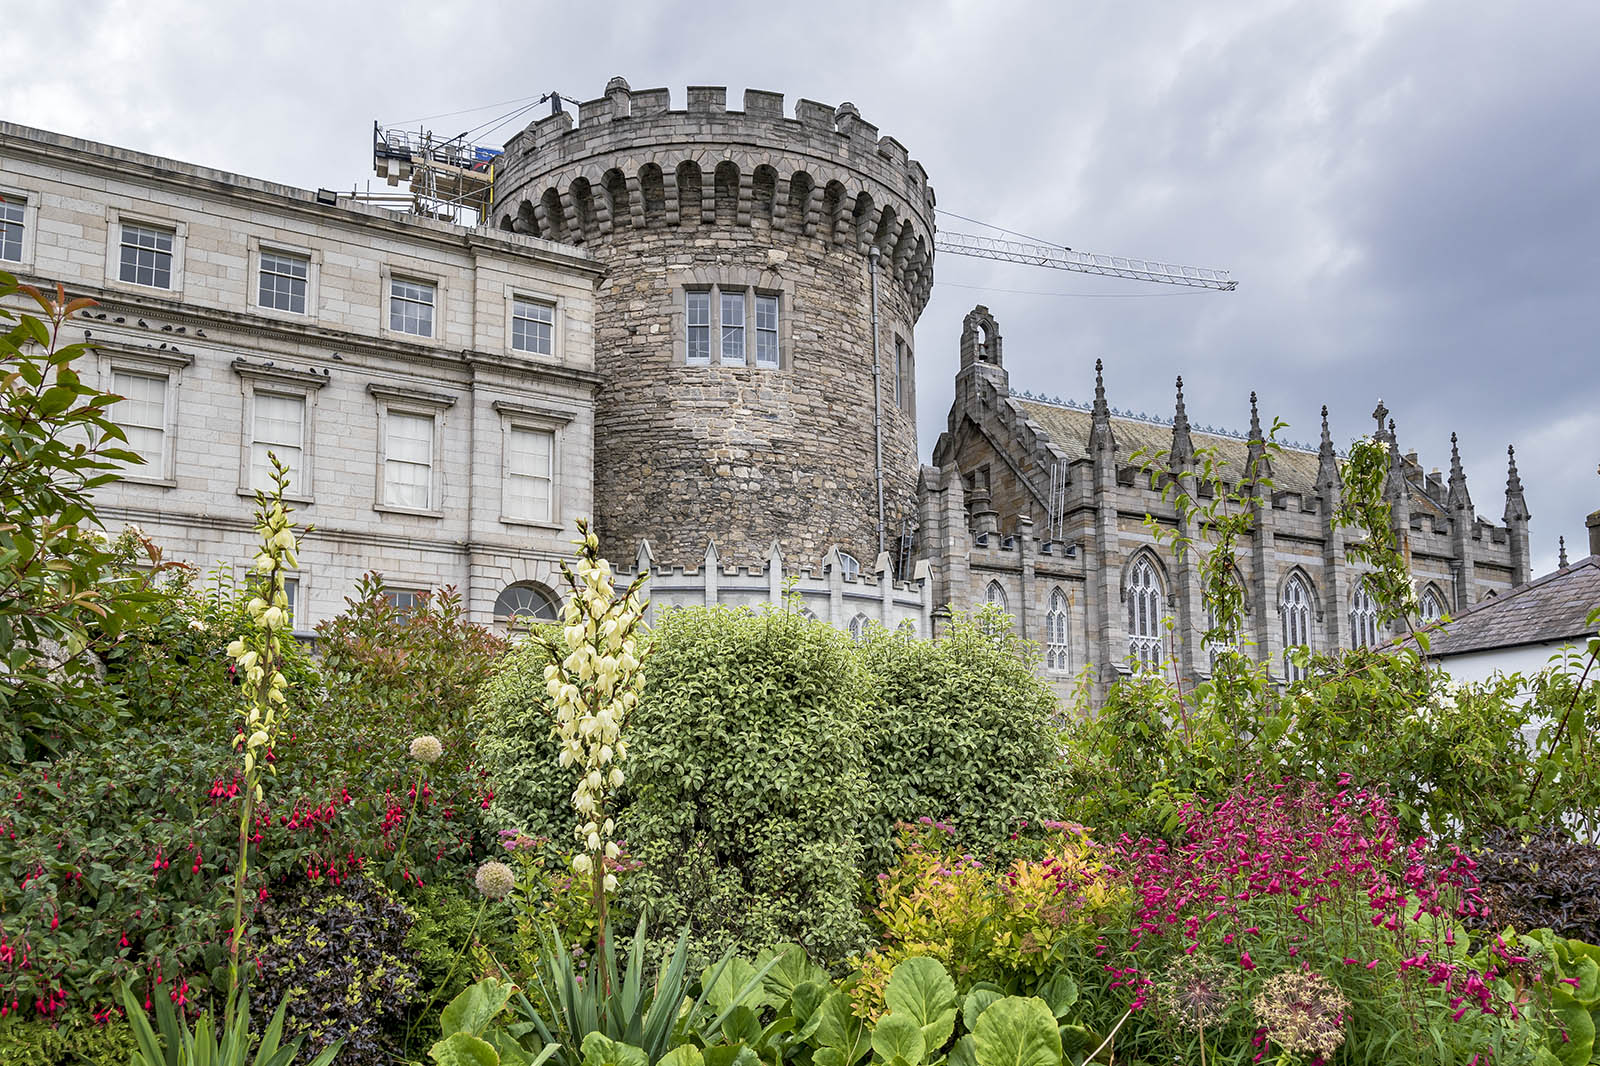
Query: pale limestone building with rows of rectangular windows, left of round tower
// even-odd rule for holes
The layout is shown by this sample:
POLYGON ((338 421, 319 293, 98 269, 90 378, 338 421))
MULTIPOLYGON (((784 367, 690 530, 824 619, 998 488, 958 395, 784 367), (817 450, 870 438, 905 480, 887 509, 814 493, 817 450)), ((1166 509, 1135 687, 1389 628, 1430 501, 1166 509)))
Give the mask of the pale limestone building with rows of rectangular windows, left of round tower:
POLYGON ((590 254, 11 123, 0 195, 21 205, 0 269, 93 298, 67 339, 128 397, 112 410, 147 464, 99 493, 109 525, 237 570, 270 447, 317 527, 296 629, 366 570, 453 584, 482 623, 507 586, 555 592, 594 506, 590 254), (531 304, 542 352, 514 344, 531 304))

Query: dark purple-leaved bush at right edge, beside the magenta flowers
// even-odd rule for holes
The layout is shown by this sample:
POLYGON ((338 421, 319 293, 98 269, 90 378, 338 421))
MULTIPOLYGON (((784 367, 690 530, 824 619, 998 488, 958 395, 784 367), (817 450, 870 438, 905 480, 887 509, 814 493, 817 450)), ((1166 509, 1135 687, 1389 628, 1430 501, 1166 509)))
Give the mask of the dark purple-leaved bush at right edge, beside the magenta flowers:
POLYGON ((1554 826, 1533 836, 1501 829, 1474 858, 1488 928, 1549 928, 1600 944, 1600 845, 1578 844, 1554 826))

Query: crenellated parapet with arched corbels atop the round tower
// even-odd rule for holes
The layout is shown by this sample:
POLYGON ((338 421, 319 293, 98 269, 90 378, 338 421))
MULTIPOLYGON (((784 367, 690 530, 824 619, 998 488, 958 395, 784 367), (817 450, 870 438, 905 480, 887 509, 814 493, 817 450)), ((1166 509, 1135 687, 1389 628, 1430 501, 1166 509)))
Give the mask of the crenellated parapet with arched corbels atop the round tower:
POLYGON ((605 96, 541 118, 506 146, 493 218, 502 229, 570 245, 629 230, 763 227, 866 254, 917 314, 933 287, 934 194, 922 163, 880 136, 853 104, 747 90, 730 110, 722 86, 605 96))

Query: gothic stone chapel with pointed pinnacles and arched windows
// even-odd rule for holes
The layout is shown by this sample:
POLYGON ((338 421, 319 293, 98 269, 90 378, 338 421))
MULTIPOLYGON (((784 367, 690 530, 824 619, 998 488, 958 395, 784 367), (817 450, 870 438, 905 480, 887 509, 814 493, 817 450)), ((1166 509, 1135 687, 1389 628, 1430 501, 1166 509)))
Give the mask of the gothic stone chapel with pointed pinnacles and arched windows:
MULTIPOLYGON (((1373 415, 1370 432, 1390 445, 1386 496, 1421 616, 1456 615, 1526 583, 1528 504, 1515 453, 1504 525, 1494 525, 1474 507, 1454 439, 1448 479, 1424 472, 1416 451, 1402 453, 1382 402, 1373 415)), ((1197 448, 1216 451, 1227 464, 1224 479, 1262 469, 1272 482, 1254 496, 1254 530, 1237 559, 1250 651, 1272 675, 1282 680, 1294 669, 1288 648, 1387 640, 1362 568, 1346 552, 1349 533, 1333 523, 1341 456, 1326 408, 1318 447, 1288 445, 1272 458, 1254 394, 1250 432, 1238 435, 1190 426, 1182 378, 1171 418, 1114 410, 1098 362, 1093 403, 1019 395, 986 307, 963 323, 949 427, 922 471, 934 602, 1003 605, 1018 631, 1042 645, 1046 674, 1062 691, 1085 667, 1094 696, 1134 669, 1208 675, 1198 575, 1149 530, 1146 515, 1166 530, 1178 528, 1178 515, 1142 469, 1192 471, 1197 448)))

